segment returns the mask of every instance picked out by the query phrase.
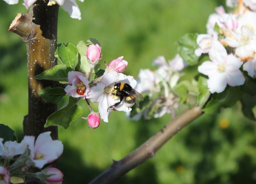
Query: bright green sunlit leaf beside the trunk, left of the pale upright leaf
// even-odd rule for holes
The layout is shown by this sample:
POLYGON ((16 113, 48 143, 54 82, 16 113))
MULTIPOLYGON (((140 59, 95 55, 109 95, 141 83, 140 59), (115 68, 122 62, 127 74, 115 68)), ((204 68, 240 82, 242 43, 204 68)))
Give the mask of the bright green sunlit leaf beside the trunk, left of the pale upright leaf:
POLYGON ((63 64, 68 67, 75 69, 78 64, 78 51, 76 46, 71 43, 68 44, 58 44, 58 48, 54 55, 59 58, 63 64))

